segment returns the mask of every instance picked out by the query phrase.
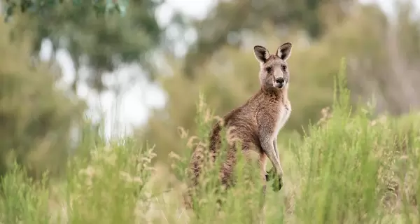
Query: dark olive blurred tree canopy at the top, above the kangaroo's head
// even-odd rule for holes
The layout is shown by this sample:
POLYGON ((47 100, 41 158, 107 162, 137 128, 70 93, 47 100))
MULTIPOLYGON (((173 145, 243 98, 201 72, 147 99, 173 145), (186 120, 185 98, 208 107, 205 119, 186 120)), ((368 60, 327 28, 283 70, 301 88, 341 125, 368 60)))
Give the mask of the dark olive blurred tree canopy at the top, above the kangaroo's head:
POLYGON ((266 22, 274 25, 277 36, 300 29, 310 38, 320 38, 328 23, 339 22, 349 14, 354 0, 232 0, 220 1, 209 16, 195 22, 197 41, 188 51, 185 72, 194 78, 200 67, 223 45, 241 45, 248 34, 266 22))

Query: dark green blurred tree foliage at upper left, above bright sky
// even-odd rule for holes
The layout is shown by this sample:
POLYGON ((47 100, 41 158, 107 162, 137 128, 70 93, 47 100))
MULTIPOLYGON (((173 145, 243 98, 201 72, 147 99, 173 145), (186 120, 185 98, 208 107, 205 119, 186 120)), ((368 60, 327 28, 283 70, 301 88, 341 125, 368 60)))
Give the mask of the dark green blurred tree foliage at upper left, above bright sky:
MULTIPOLYGON (((36 1, 37 3, 44 1, 36 1)), ((97 11, 108 10, 108 1, 63 1, 34 8, 25 13, 13 15, 12 41, 19 40, 28 32, 31 39, 31 54, 38 56, 41 44, 46 39, 52 43, 51 62, 55 52, 64 49, 69 52, 76 71, 71 90, 76 92, 80 83, 87 83, 98 92, 115 90, 104 83, 106 73, 113 72, 122 64, 138 63, 148 78, 153 78, 151 50, 160 45, 162 27, 155 18, 160 1, 130 1, 124 16, 106 13, 98 16, 97 11), (97 9, 99 8, 99 9, 97 9), (87 69, 87 76, 80 75, 87 69)), ((123 1, 118 1, 118 4, 123 1)), ((120 5, 118 5, 120 6, 120 5)), ((139 74, 130 76, 130 82, 139 74)))

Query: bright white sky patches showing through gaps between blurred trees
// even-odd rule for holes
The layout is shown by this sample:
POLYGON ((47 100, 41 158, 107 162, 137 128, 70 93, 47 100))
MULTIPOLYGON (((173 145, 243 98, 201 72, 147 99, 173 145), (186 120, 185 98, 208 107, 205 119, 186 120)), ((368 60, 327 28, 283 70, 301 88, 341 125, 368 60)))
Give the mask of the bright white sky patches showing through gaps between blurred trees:
MULTIPOLYGON (((376 1, 386 13, 392 13, 393 6, 391 0, 360 1, 362 3, 376 1)), ((169 22, 174 10, 179 10, 193 18, 204 18, 208 10, 214 6, 215 3, 216 0, 167 0, 167 2, 158 9, 156 16, 160 25, 165 25, 169 22)), ((419 6, 417 8, 420 8, 420 1, 417 1, 417 5, 419 6)), ((50 50, 50 42, 44 41, 41 48, 41 58, 48 58, 50 50)), ((179 50, 184 52, 185 48, 179 50)), ((65 87, 73 80, 73 64, 69 55, 67 55, 64 50, 57 52, 57 61, 62 66, 64 76, 59 85, 65 87)), ((124 77, 124 75, 132 72, 139 73, 140 71, 137 66, 129 66, 116 72, 119 73, 118 76, 124 77)), ((88 115, 95 118, 95 113, 97 113, 98 110, 103 111, 104 116, 106 117, 104 131, 107 138, 114 134, 118 136, 130 134, 132 127, 144 125, 146 123, 149 116, 148 109, 160 109, 165 106, 166 102, 165 92, 162 92, 158 85, 146 83, 146 80, 139 80, 138 83, 130 87, 130 89, 123 94, 119 110, 117 111, 113 107, 116 100, 111 94, 105 93, 101 97, 98 97, 90 92, 85 85, 80 85, 78 95, 79 97, 86 99, 87 103, 90 105, 90 112, 88 112, 88 115), (118 112, 118 114, 116 112, 118 112), (119 128, 116 126, 113 118, 118 118, 119 128)))

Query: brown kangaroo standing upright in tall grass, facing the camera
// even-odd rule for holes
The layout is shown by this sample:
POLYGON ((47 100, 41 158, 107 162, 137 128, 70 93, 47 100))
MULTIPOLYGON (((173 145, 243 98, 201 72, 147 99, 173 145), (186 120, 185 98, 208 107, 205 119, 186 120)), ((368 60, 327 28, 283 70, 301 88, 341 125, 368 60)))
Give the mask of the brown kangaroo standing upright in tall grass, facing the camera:
MULTIPOLYGON (((216 160, 221 148, 221 128, 228 130, 228 153, 221 168, 221 183, 227 188, 232 186, 232 172, 236 163, 236 146, 232 139, 239 140, 241 152, 245 157, 258 155, 256 162, 260 169, 260 178, 263 181, 263 195, 269 176, 274 178, 273 190, 278 191, 283 186, 283 169, 281 167, 279 152, 277 150, 277 134, 286 124, 291 112, 288 100, 289 71, 287 59, 292 50, 291 43, 283 43, 270 55, 267 48, 255 45, 255 58, 260 64, 260 90, 253 94, 243 105, 233 109, 223 119, 216 123, 211 130, 209 153, 212 160, 216 160), (267 158, 272 162, 273 168, 267 173, 267 158)), ((190 172, 193 186, 197 185, 200 176, 200 165, 203 158, 198 147, 192 155, 190 172)), ((184 197, 186 207, 192 204, 184 197)))

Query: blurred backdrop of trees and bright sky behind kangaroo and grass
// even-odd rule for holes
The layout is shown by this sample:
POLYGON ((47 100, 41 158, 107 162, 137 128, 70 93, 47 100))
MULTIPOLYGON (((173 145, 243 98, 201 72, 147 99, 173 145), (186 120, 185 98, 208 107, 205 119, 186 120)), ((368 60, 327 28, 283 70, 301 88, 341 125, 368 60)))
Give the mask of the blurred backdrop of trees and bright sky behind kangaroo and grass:
POLYGON ((99 17, 81 4, 0 22, 1 172, 15 157, 34 176, 62 173, 101 122, 104 138, 155 144, 165 161, 185 148, 177 127, 195 134, 200 92, 222 116, 258 90, 253 45, 293 43, 285 138, 332 103, 342 57, 354 104, 393 116, 420 106, 417 0, 132 0, 99 17))

